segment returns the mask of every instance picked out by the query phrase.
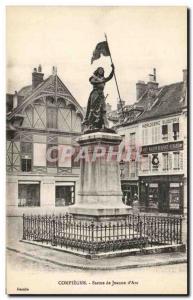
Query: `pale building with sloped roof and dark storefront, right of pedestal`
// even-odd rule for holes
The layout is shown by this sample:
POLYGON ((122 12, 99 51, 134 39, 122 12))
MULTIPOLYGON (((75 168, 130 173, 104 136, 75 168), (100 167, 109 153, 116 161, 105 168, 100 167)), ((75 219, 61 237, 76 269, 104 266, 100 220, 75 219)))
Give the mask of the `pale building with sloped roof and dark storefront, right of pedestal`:
POLYGON ((159 87, 156 71, 136 84, 137 99, 117 132, 130 145, 122 189, 140 209, 186 214, 187 211, 187 71, 183 81, 159 87))

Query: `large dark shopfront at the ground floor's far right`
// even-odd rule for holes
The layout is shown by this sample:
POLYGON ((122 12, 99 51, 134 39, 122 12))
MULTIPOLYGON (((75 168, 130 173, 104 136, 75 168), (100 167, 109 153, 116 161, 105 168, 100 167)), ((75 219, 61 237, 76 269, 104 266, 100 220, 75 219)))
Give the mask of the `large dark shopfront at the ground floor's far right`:
POLYGON ((181 214, 183 189, 183 175, 140 176, 140 206, 145 211, 181 214))

